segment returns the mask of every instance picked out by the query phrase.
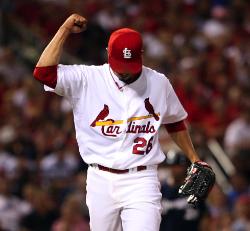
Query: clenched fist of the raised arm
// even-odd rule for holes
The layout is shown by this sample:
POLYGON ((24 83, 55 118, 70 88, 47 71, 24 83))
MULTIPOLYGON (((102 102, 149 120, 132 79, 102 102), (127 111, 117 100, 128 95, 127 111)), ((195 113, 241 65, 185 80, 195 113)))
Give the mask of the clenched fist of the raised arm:
POLYGON ((79 14, 72 14, 65 20, 61 27, 68 29, 70 33, 80 33, 86 30, 87 20, 79 14))

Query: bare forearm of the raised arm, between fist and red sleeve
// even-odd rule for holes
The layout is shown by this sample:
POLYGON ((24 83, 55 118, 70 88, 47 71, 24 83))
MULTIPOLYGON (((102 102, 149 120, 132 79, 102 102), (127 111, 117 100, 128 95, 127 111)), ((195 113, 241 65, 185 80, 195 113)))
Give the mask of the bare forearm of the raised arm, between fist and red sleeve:
POLYGON ((36 66, 46 67, 57 65, 61 57, 63 45, 69 34, 70 32, 66 27, 60 27, 53 39, 44 49, 36 66))

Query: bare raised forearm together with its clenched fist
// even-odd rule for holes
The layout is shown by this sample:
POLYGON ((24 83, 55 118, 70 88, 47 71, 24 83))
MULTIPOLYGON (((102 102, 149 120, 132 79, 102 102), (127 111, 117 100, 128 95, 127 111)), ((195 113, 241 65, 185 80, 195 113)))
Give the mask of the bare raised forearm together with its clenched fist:
POLYGON ((61 57, 63 45, 68 35, 84 31, 86 29, 86 25, 87 20, 81 15, 72 14, 68 17, 44 49, 36 66, 47 67, 57 65, 61 57))

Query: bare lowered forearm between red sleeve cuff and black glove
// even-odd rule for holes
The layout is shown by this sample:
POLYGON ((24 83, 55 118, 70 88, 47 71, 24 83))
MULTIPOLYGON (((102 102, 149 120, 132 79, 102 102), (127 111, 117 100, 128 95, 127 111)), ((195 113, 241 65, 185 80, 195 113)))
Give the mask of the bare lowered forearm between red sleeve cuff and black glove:
POLYGON ((199 160, 187 130, 170 133, 170 136, 191 162, 199 160))

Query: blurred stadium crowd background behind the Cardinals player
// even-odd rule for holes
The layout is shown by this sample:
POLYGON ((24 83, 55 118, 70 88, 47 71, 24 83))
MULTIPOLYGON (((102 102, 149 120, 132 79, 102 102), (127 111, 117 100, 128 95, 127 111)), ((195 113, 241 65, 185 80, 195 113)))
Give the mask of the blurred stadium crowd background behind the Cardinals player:
POLYGON ((61 63, 102 64, 113 30, 140 31, 145 65, 171 80, 195 148, 216 172, 206 203, 188 206, 177 189, 189 163, 160 130, 161 231, 250 230, 248 0, 0 0, 0 230, 89 230, 70 105, 32 77, 71 13, 88 29, 70 36, 61 63))

